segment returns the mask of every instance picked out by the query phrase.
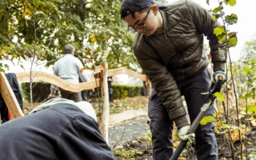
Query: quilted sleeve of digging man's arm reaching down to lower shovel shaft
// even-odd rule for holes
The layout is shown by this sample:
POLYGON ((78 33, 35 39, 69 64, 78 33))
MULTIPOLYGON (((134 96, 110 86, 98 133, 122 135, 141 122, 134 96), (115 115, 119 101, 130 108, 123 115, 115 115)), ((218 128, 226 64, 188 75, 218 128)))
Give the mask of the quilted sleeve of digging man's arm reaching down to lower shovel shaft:
POLYGON ((154 90, 158 92, 158 96, 162 99, 163 105, 166 106, 169 118, 174 120, 178 129, 188 125, 186 110, 182 104, 181 94, 173 76, 166 66, 162 65, 158 54, 153 54, 154 49, 151 46, 147 45, 145 41, 140 41, 137 45, 134 46, 134 54, 143 71, 150 79, 154 90))

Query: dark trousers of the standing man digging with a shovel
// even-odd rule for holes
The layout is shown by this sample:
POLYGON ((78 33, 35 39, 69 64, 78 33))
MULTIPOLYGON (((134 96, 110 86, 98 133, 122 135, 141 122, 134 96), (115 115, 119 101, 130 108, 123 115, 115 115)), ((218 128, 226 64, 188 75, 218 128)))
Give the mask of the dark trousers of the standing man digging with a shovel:
MULTIPOLYGON (((194 78, 179 82, 178 89, 186 99, 190 122, 198 115, 201 107, 206 102, 210 90, 210 73, 203 70, 194 78)), ((214 106, 206 111, 206 116, 214 116, 214 106)), ((156 160, 169 159, 173 154, 173 143, 171 141, 173 122, 170 121, 165 106, 153 89, 149 102, 150 130, 152 133, 153 156, 156 160)), ((195 130, 195 150, 198 160, 218 160, 218 146, 214 134, 214 123, 199 125, 195 130)))

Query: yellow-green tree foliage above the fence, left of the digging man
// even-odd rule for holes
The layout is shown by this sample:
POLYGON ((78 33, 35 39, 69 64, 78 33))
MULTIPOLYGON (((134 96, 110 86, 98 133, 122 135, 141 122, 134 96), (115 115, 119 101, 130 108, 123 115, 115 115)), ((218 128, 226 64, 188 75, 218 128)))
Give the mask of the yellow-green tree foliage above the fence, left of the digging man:
POLYGON ((120 5, 114 0, 0 0, 0 59, 28 60, 35 55, 49 66, 71 43, 82 62, 93 57, 96 65, 106 61, 110 69, 137 70, 131 51, 134 34, 120 19, 120 5))

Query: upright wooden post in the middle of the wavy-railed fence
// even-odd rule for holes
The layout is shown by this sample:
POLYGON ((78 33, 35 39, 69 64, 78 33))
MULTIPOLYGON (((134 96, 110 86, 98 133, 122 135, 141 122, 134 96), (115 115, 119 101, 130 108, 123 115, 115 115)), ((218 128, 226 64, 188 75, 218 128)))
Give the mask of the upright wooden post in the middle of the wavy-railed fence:
POLYGON ((102 136, 105 138, 107 144, 109 144, 109 89, 107 85, 107 62, 101 63, 102 70, 101 70, 101 88, 102 88, 102 118, 101 118, 101 126, 100 130, 102 131, 102 136))

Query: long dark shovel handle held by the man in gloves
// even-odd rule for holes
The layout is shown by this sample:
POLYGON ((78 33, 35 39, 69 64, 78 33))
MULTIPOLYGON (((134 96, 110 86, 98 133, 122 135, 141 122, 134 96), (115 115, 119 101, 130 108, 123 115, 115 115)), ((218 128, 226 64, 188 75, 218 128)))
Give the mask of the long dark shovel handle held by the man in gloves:
MULTIPOLYGON (((214 83, 214 86, 210 88, 210 94, 206 100, 206 103, 202 106, 202 109, 198 114, 197 118, 195 118, 194 122, 192 122, 190 129, 187 131, 187 134, 193 134, 194 131, 197 129, 200 121, 206 115, 206 110, 211 106, 211 104, 214 102, 214 99, 216 98, 214 96, 214 93, 219 92, 221 90, 222 82, 223 82, 223 78, 219 76, 218 82, 214 83)), ((182 150, 186 147, 186 143, 187 143, 187 140, 179 143, 177 149, 174 151, 174 154, 171 156, 170 160, 178 159, 178 156, 182 153, 182 150)))

